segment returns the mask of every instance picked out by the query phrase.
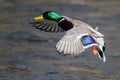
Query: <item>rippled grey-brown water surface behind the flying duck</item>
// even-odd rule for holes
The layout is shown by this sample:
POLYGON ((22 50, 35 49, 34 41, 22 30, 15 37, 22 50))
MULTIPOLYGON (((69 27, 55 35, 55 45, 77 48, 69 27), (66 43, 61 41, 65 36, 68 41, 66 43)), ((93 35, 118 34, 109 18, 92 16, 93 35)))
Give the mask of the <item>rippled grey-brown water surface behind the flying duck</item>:
POLYGON ((0 0, 0 80, 119 80, 120 0, 0 0), (53 10, 99 26, 107 62, 90 50, 62 56, 55 44, 63 34, 45 33, 29 21, 53 10))

